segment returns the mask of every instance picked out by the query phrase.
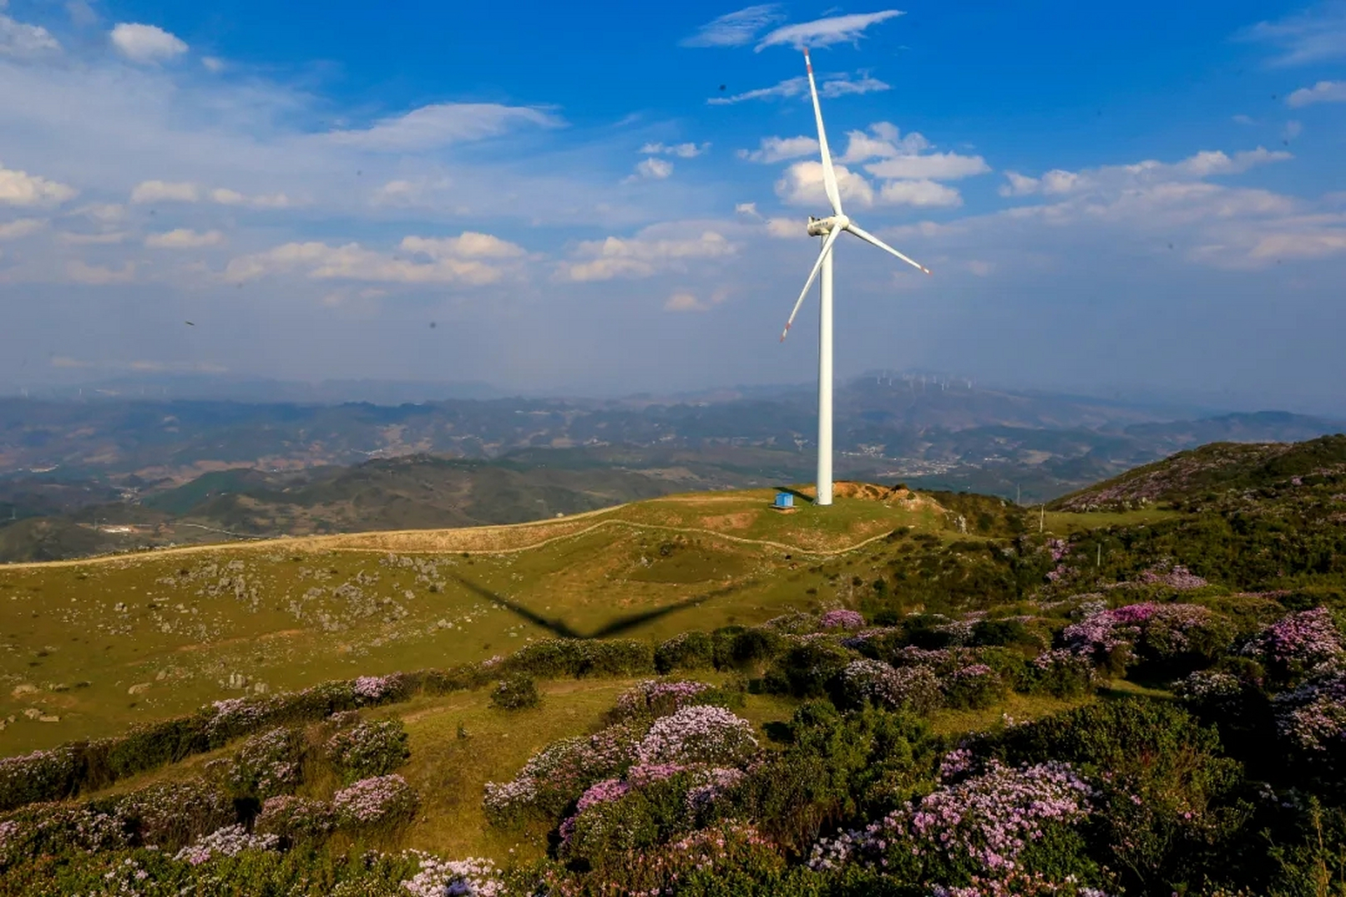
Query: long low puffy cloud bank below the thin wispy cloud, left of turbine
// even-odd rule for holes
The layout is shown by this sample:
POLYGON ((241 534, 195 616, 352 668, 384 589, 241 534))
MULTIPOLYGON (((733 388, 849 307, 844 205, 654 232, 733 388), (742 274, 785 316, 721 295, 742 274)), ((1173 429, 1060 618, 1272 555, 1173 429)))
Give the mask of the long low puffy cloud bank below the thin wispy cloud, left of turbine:
MULTIPOLYGON (((475 237, 486 237, 476 234, 475 237)), ((409 238, 420 241, 421 238, 409 238)), ((405 243, 406 241, 404 241, 405 243)), ((413 242, 415 251, 431 256, 436 241, 413 242)), ((474 258, 456 258, 448 253, 431 256, 428 262, 380 253, 359 243, 328 246, 320 242, 284 243, 275 249, 240 256, 225 268, 230 281, 256 280, 271 274, 303 273, 314 280, 355 280, 392 284, 462 284, 482 286, 503 277, 503 269, 474 258)))

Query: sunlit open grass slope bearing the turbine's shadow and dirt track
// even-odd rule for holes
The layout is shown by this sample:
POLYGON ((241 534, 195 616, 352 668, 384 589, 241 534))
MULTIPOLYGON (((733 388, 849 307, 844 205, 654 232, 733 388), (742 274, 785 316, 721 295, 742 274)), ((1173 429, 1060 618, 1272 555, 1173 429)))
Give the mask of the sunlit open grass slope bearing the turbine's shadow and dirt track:
POLYGON ((845 602, 888 533, 946 526, 926 498, 878 492, 793 514, 758 490, 511 527, 0 568, 0 754, 540 637, 653 640, 845 602))

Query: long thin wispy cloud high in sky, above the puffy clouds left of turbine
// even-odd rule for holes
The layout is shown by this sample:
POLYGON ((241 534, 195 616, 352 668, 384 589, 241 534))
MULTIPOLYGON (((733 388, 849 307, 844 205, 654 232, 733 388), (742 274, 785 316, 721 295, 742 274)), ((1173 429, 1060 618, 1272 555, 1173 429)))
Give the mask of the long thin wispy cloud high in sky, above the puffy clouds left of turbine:
POLYGON ((466 140, 494 137, 516 125, 556 128, 561 121, 548 112, 529 106, 446 102, 381 118, 365 129, 332 130, 326 137, 341 145, 371 152, 419 152, 466 140))

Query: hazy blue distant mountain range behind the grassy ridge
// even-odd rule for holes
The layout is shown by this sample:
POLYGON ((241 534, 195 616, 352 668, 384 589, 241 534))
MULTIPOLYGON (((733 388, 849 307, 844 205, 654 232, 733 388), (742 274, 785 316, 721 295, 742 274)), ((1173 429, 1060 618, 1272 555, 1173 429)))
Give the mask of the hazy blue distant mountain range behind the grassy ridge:
MULTIPOLYGON (((341 530, 513 523, 669 491, 812 479, 812 390, 681 399, 0 399, 0 559, 341 530), (112 527, 112 529, 109 529, 112 527)), ((1039 502, 1206 442, 1346 424, 868 377, 837 475, 1039 502)))

